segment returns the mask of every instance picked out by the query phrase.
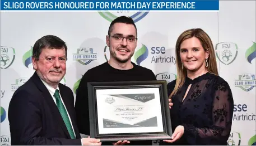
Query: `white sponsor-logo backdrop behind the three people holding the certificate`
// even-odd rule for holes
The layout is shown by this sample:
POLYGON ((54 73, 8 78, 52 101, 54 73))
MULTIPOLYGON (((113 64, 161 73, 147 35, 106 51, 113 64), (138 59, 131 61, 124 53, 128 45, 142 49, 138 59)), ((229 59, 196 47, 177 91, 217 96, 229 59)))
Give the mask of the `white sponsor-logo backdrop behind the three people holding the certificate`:
POLYGON ((1 12, 1 145, 11 144, 7 116, 11 97, 34 74, 31 56, 35 41, 55 35, 67 43, 67 74, 62 83, 76 97, 82 75, 109 59, 105 38, 110 22, 122 15, 136 22, 136 52, 142 50, 145 55, 133 56, 132 61, 167 82, 176 77, 174 48, 180 33, 190 28, 206 31, 215 46, 219 74, 229 83, 234 97, 227 144, 255 145, 255 4, 220 1, 220 11, 214 12, 1 12))

